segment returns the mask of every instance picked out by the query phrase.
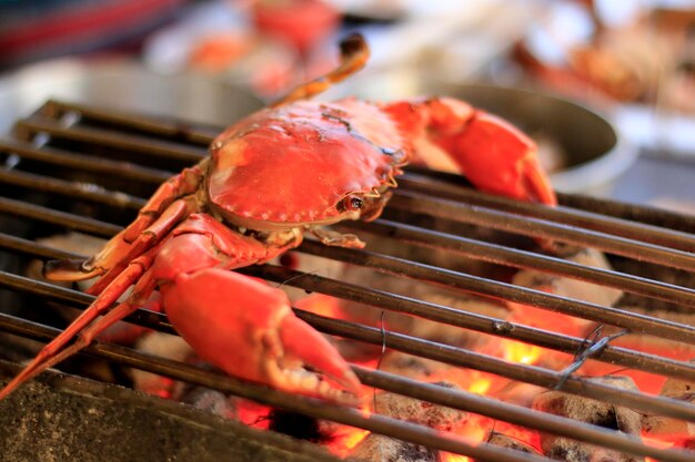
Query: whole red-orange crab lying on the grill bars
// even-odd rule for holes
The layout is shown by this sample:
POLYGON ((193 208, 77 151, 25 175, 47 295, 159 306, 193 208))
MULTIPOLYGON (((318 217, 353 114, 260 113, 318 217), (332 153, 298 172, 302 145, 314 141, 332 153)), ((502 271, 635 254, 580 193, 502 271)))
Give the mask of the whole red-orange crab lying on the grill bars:
POLYGON ((533 142, 464 102, 309 100, 366 62, 359 35, 341 47, 335 70, 220 134, 208 158, 161 185, 99 254, 47 264, 54 280, 101 276, 88 290, 97 298, 0 399, 153 294, 197 353, 226 373, 329 400, 354 397, 360 382, 350 366, 294 316, 284 292, 231 269, 269 261, 299 246, 304 233, 326 245, 362 247, 356 236, 328 226, 376 218, 394 177, 409 161, 426 163, 426 152, 450 157, 482 191, 555 204, 533 142))

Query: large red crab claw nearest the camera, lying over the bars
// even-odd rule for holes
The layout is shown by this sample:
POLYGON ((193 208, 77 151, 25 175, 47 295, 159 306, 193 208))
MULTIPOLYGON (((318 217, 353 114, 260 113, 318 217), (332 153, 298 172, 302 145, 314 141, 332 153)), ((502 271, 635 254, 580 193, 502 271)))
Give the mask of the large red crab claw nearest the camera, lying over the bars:
POLYGON ((286 295, 264 281, 205 268, 162 288, 177 331, 231 376, 356 404, 360 381, 333 346, 294 316, 286 295))

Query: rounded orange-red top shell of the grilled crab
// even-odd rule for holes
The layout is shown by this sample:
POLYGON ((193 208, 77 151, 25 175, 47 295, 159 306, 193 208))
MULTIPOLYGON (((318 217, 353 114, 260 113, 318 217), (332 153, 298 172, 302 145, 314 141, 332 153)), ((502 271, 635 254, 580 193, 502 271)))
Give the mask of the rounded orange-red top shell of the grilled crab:
POLYGON ((240 226, 330 224, 346 217, 343 197, 401 173, 403 144, 386 113, 355 99, 263 110, 212 143, 208 195, 240 226))

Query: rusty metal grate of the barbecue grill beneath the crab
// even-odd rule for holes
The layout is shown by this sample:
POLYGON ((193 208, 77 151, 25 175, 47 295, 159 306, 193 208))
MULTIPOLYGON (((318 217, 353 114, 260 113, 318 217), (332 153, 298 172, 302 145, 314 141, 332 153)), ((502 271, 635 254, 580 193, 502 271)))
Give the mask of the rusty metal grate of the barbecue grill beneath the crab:
MULTIPOLYGON (((78 290, 32 278, 24 273, 33 259, 77 256, 73 251, 49 247, 38 239, 64 230, 111 237, 133 218, 161 182, 207 155, 208 144, 219 132, 220 129, 213 126, 164 117, 144 117, 60 101, 50 101, 33 115, 17 122, 12 135, 0 141, 0 158, 3 161, 0 171, 0 301, 3 311, 0 314, 0 330, 9 336, 3 340, 6 357, 21 359, 22 353, 32 349, 32 343, 26 340, 46 342, 57 335, 62 327, 59 317, 36 316, 39 310, 52 312, 43 307, 81 309, 92 300, 91 296, 78 290)), ((530 305, 614 327, 618 331, 648 335, 672 342, 668 345, 695 346, 694 326, 651 314, 651 309, 654 309, 654 312, 668 311, 686 316, 695 307, 694 217, 563 194, 560 195, 561 206, 551 209, 492 197, 471 189, 460 177, 417 170, 409 170, 399 183, 400 187, 395 189, 382 218, 367 224, 341 224, 342 229, 355 230, 367 242, 365 249, 326 247, 308 240, 299 248, 300 256, 346 263, 351 267, 362 268, 362 271, 383 274, 407 284, 414 280, 432 287, 446 286, 447 290, 530 305), (452 229, 463 229, 465 233, 452 229), (490 239, 491 235, 502 237, 490 239), (600 249, 606 253, 616 269, 576 264, 556 257, 537 245, 545 243, 547 247, 551 242, 562 247, 600 249), (393 248, 396 250, 391 251, 393 248), (424 251, 405 251, 411 248, 424 251), (437 266, 436 258, 414 259, 407 256, 437 253, 498 267, 501 275, 506 275, 510 268, 533 269, 618 288, 631 300, 629 305, 645 308, 612 308, 516 286, 505 276, 487 277, 475 270, 462 273, 437 266)), ((471 267, 476 268, 475 265, 471 267)), ((462 311, 410 294, 346 281, 335 275, 330 277, 320 271, 305 273, 282 265, 250 267, 242 271, 309 292, 326 294, 370 306, 376 312, 400 312, 454 326, 466 335, 475 332, 479 336, 516 340, 575 356, 575 359, 591 357, 591 360, 606 363, 615 370, 638 370, 661 379, 695 382, 695 363, 617 347, 612 345, 614 337, 603 337, 601 340, 572 337, 462 311)), ((391 331, 383 326, 367 326, 301 309, 295 311, 318 330, 353 342, 370 343, 383 350, 402 351, 456 368, 500 376, 515 383, 560 389, 572 396, 610 402, 638 413, 695 422, 695 404, 689 401, 587 380, 572 370, 557 371, 510 362, 460 346, 391 331)), ((132 315, 128 321, 173 332, 165 316, 144 309, 132 315)), ((353 408, 289 396, 195 365, 122 346, 97 342, 85 353, 109 363, 143 369, 273 408, 365 429, 480 461, 548 460, 542 455, 497 446, 490 439, 475 442, 397 420, 380 413, 379 409, 366 414, 353 408)), ((3 369, 6 372, 12 371, 9 366, 3 369)), ((618 453, 661 461, 692 461, 695 458, 693 451, 654 445, 625 434, 615 427, 588 424, 364 366, 355 365, 354 370, 367 387, 567 437, 618 453)), ((119 394, 117 402, 121 397, 127 400, 128 393, 119 394)), ((13 399, 18 398, 14 394, 9 398, 13 399)), ((27 400, 27 397, 23 399, 27 400)), ((155 407, 152 409, 155 412, 155 407)), ((187 414, 184 418, 195 420, 199 417, 187 414)), ((249 435, 244 433, 243 438, 249 435)))

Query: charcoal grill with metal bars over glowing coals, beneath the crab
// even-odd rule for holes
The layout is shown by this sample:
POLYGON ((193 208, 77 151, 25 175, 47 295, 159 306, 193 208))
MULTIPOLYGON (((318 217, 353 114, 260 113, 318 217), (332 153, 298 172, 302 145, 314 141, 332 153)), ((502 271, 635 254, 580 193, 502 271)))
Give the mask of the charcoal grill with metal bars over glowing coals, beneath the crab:
MULTIPOLYGON (((218 132, 51 101, 0 141, 2 380, 92 300, 42 261, 91 254, 218 132)), ((242 270, 330 336, 361 407, 223 376, 142 309, 0 402, 2 460, 695 460, 695 218, 399 184, 340 225, 364 250, 308 240, 242 270)))

